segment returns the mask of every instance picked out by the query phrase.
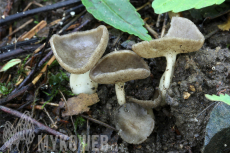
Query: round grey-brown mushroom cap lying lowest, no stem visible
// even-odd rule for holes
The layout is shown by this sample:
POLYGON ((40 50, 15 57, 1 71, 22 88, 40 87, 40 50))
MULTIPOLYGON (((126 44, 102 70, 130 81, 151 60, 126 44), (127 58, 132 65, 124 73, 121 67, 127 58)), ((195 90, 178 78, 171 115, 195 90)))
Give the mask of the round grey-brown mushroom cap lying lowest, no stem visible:
POLYGON ((140 144, 154 129, 155 122, 146 109, 135 103, 125 103, 115 115, 116 129, 123 140, 140 144))

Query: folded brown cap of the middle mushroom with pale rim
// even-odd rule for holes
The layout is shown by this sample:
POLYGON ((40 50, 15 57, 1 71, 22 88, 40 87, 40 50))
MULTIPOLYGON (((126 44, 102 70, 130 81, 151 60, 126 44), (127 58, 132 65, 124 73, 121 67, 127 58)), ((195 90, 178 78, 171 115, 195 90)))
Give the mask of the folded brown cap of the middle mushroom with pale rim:
POLYGON ((90 71, 90 78, 101 84, 115 84, 150 75, 145 61, 129 50, 114 51, 104 56, 90 71))

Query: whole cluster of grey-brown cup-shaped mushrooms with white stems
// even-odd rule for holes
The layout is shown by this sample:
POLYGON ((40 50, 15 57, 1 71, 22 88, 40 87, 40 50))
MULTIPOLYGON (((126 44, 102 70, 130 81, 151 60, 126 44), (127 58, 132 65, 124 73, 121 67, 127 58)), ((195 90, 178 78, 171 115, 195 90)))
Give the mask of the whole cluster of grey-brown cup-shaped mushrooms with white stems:
POLYGON ((98 83, 115 84, 119 109, 115 115, 116 128, 123 140, 142 143, 152 133, 155 122, 152 108, 164 105, 164 98, 172 80, 176 55, 199 50, 204 36, 190 20, 174 17, 164 38, 143 41, 132 46, 133 51, 114 51, 103 58, 109 33, 105 26, 63 36, 53 35, 50 44, 59 64, 70 76, 75 94, 96 92, 98 83), (160 80, 160 93, 154 100, 129 97, 126 103, 124 84, 130 80, 145 79, 150 69, 144 58, 165 56, 166 70, 160 80), (100 59, 101 58, 101 59, 100 59))

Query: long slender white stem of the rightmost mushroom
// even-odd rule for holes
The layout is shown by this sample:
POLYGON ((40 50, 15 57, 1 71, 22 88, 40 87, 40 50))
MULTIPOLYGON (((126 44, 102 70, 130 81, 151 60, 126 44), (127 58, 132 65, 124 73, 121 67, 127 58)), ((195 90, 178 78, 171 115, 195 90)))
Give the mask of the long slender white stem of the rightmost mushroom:
POLYGON ((176 53, 169 53, 165 55, 166 60, 167 60, 167 66, 166 66, 164 74, 161 77, 160 85, 159 85, 159 89, 161 91, 161 96, 163 100, 161 105, 165 104, 166 91, 168 90, 170 83, 172 81, 175 62, 176 62, 176 55, 177 55, 176 53))

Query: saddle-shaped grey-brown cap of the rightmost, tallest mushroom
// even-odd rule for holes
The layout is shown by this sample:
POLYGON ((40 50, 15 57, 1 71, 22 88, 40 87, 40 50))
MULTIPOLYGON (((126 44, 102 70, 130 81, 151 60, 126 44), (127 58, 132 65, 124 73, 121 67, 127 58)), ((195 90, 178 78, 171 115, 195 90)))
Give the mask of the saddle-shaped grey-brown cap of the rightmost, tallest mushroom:
POLYGON ((132 49, 141 57, 155 58, 165 56, 172 51, 177 54, 197 51, 203 43, 204 36, 192 21, 173 17, 165 37, 137 43, 132 46, 132 49))

